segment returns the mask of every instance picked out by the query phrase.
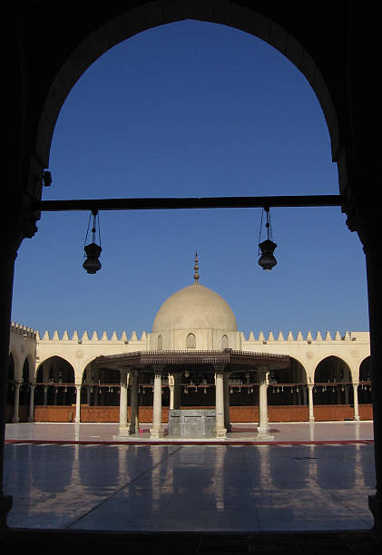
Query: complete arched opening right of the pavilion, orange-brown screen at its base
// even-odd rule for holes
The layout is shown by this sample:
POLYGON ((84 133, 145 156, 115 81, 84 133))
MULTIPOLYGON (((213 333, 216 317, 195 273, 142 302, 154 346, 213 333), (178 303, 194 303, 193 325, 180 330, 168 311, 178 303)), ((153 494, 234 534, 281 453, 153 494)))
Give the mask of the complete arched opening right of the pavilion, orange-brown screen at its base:
POLYGON ((351 371, 339 356, 321 360, 314 374, 315 419, 353 420, 354 397, 351 371))

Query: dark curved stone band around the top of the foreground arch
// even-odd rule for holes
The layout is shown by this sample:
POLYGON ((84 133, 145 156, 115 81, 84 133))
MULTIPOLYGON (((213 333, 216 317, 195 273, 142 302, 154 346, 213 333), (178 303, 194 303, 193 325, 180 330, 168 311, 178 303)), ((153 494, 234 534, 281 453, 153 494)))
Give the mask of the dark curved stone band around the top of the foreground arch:
MULTIPOLYGON (((340 161, 338 116, 323 72, 308 48, 299 43, 286 24, 281 25, 276 19, 272 19, 272 14, 260 14, 252 7, 244 7, 237 2, 216 3, 212 0, 190 5, 183 3, 181 7, 178 3, 168 3, 165 15, 161 2, 152 2, 150 6, 139 5, 133 10, 117 10, 117 13, 109 17, 105 17, 104 10, 99 14, 97 11, 94 6, 93 20, 92 23, 88 22, 86 32, 73 36, 73 40, 66 37, 62 63, 55 69, 52 68, 51 81, 45 83, 44 102, 36 121, 35 144, 35 152, 44 167, 49 167, 50 145, 58 114, 66 96, 83 72, 110 48, 132 35, 184 19, 230 25, 259 37, 289 58, 305 75, 318 97, 328 125, 332 159, 340 161)), ((344 165, 344 161, 341 162, 344 165)))

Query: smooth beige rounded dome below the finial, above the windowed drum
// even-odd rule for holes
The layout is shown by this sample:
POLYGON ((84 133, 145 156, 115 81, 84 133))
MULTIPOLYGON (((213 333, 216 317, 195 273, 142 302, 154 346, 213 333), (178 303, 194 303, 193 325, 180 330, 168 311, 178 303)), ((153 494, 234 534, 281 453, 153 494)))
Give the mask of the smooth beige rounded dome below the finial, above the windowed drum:
POLYGON ((184 287, 164 301, 152 332, 173 329, 220 329, 237 331, 230 305, 215 291, 199 283, 184 287))

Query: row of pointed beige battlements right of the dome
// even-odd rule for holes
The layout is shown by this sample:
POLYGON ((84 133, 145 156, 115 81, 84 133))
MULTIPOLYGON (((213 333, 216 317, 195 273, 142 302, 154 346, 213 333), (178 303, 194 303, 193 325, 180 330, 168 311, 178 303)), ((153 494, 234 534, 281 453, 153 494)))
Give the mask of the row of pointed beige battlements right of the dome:
POLYGON ((258 338, 256 339, 256 337, 253 334, 253 331, 250 332, 250 336, 248 337, 248 339, 245 338, 244 334, 241 334, 241 339, 243 341, 247 341, 250 343, 260 343, 262 345, 266 345, 268 343, 282 343, 284 341, 293 341, 293 342, 304 342, 304 343, 319 343, 322 341, 325 342, 329 342, 329 341, 333 341, 333 342, 338 342, 338 341, 369 341, 370 337, 369 337, 369 333, 368 332, 348 332, 346 331, 345 334, 343 336, 341 336, 341 334, 339 333, 339 331, 336 332, 335 336, 332 337, 330 335, 330 333, 327 331, 327 333, 324 335, 324 337, 322 336, 321 332, 317 332, 316 336, 312 336, 311 332, 309 331, 308 334, 304 337, 302 335, 302 332, 298 332, 298 334, 295 336, 293 336, 292 332, 289 331, 288 336, 285 338, 282 333, 279 331, 278 334, 273 334, 272 331, 269 331, 268 336, 266 337, 264 335, 264 333, 262 331, 260 331, 260 334, 258 336, 258 338))

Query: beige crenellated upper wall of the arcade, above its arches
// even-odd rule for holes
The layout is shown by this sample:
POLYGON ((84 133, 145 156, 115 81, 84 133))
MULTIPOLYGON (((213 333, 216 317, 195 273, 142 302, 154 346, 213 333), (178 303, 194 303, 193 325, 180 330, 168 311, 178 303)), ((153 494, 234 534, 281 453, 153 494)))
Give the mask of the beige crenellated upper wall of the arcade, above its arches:
MULTIPOLYGON (((291 333, 287 337, 283 337, 281 333, 274 335, 272 332, 269 332, 268 336, 264 336, 260 332, 257 338, 253 332, 250 332, 247 339, 242 332, 220 330, 192 329, 171 333, 173 340, 171 343, 164 341, 163 349, 185 349, 186 337, 188 333, 193 333, 196 336, 197 350, 220 350, 221 338, 223 335, 227 335, 228 345, 233 349, 292 356, 304 367, 308 384, 314 383, 314 373, 319 362, 330 355, 342 359, 350 369, 353 383, 358 383, 359 367, 362 361, 370 355, 367 332, 347 332, 345 336, 340 336, 337 332, 334 337, 331 337, 329 333, 322 337, 319 332, 314 337, 310 332, 305 337, 300 332, 296 337, 291 333)), ((108 337, 105 332, 101 337, 97 336, 95 332, 92 335, 84 332, 81 337, 77 332, 74 332, 71 337, 67 332, 64 332, 62 336, 54 332, 54 335, 50 337, 48 332, 45 332, 44 336, 40 336, 38 332, 30 328, 13 324, 9 350, 14 355, 17 381, 21 381, 26 357, 29 357, 30 381, 34 382, 39 365, 51 356, 61 356, 73 366, 75 383, 81 384, 84 369, 96 356, 156 350, 158 335, 158 333, 146 335, 143 332, 141 338, 138 339, 135 332, 132 332, 130 337, 125 332, 121 336, 117 336, 114 332, 111 337, 108 337)))

